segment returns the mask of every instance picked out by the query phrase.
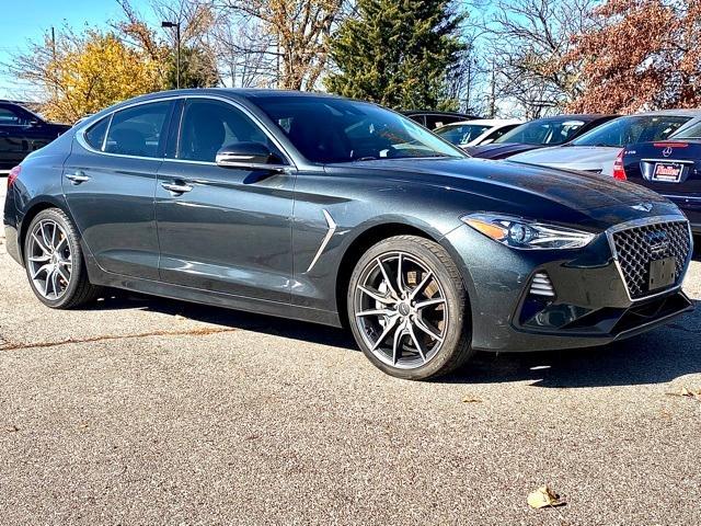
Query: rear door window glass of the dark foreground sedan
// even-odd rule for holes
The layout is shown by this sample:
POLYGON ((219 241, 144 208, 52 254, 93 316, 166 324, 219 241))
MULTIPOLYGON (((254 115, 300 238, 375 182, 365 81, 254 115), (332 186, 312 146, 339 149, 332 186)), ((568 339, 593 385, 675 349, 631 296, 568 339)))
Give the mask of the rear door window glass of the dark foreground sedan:
POLYGON ((170 101, 141 104, 114 114, 105 150, 136 157, 162 157, 170 101))

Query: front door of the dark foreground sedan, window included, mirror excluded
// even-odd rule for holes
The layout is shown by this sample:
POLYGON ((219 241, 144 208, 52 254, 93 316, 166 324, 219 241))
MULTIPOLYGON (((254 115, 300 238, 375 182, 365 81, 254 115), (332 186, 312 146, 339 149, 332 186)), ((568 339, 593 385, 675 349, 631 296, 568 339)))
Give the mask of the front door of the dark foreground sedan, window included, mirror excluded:
POLYGON ((294 172, 222 168, 215 159, 225 145, 253 141, 291 162, 242 106, 191 98, 180 115, 156 191, 161 279, 288 302, 294 172))

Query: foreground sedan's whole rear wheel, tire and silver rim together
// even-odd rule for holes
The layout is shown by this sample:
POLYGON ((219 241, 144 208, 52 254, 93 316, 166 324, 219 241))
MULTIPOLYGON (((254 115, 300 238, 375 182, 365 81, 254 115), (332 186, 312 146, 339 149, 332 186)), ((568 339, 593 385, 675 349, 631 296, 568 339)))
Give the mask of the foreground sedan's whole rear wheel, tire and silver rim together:
POLYGON ((78 231, 59 208, 39 211, 30 224, 24 263, 32 290, 48 307, 70 309, 100 294, 88 279, 78 231))

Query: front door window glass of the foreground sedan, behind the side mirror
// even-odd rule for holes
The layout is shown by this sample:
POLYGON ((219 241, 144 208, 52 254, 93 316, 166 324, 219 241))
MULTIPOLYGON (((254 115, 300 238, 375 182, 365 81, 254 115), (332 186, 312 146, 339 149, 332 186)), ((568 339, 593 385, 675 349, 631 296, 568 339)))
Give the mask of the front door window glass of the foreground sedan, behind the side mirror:
POLYGON ((248 115, 223 101, 191 99, 185 104, 176 157, 215 162, 217 152, 235 142, 261 142, 273 155, 283 155, 248 115))

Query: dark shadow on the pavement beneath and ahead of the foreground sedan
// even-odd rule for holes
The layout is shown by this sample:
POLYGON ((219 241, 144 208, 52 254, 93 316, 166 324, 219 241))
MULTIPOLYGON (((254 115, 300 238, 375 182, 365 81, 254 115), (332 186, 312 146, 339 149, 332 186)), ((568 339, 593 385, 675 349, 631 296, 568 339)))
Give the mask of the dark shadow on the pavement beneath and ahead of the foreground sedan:
MULTIPOLYGON (((698 304, 698 301, 697 301, 698 304)), ((115 291, 90 309, 150 310, 245 331, 358 351, 349 331, 219 307, 115 291)), ((460 370, 437 382, 529 381, 543 388, 665 384, 701 373, 701 312, 602 347, 537 353, 478 353, 460 370)))

